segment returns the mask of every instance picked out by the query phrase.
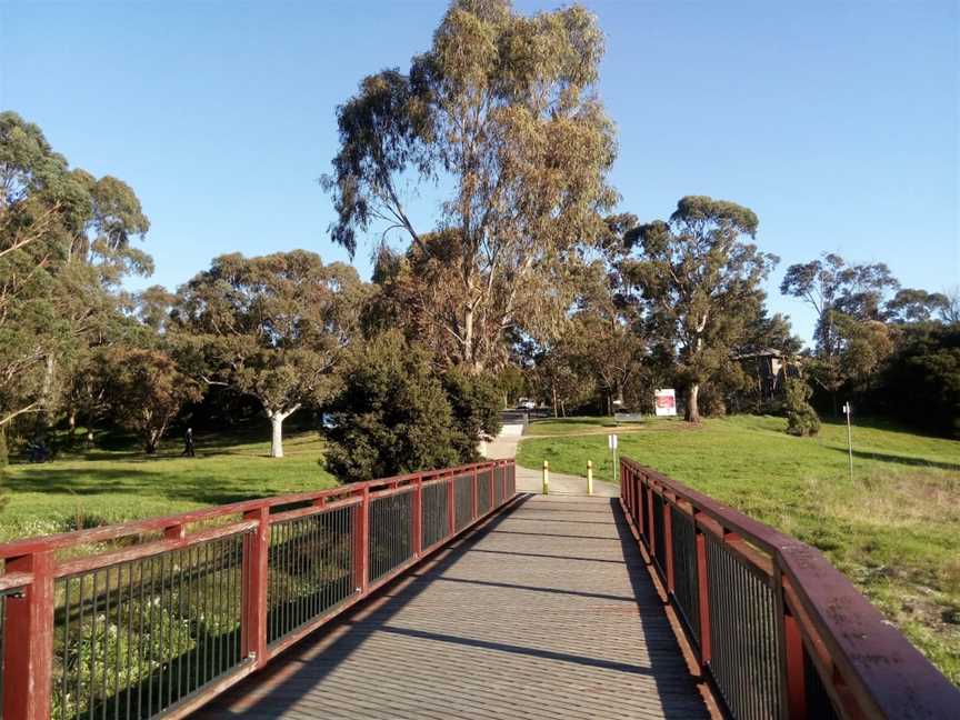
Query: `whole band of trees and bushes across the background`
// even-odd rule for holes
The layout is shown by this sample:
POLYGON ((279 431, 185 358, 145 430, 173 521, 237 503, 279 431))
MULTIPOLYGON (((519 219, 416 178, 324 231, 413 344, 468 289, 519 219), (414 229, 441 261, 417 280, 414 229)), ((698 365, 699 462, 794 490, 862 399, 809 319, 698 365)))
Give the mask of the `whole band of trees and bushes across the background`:
POLYGON ((767 412, 810 436, 852 402, 960 437, 957 290, 836 254, 792 264, 780 291, 818 318, 804 349, 767 309, 779 259, 754 210, 687 196, 666 219, 614 212, 602 54, 579 6, 456 0, 408 67, 360 79, 322 186, 332 241, 376 257, 369 282, 303 249, 131 293, 152 269, 134 190, 0 114, 0 458, 116 429, 153 453, 171 430, 241 419, 281 458, 297 414, 328 469, 360 479, 474 460, 520 396, 649 412, 659 387, 692 423, 767 412), (428 188, 424 223, 408 201, 428 188), (750 360, 770 352, 776 391, 750 360))

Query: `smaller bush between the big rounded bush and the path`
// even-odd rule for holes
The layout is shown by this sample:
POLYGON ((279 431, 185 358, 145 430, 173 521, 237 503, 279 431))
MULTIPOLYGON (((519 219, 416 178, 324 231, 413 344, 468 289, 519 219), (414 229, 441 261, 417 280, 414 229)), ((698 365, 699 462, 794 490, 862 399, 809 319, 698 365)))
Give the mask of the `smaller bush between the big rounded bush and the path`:
POLYGON ((443 373, 443 391, 453 418, 453 448, 462 462, 477 462, 480 437, 500 432, 503 400, 497 383, 489 376, 452 368, 443 373))

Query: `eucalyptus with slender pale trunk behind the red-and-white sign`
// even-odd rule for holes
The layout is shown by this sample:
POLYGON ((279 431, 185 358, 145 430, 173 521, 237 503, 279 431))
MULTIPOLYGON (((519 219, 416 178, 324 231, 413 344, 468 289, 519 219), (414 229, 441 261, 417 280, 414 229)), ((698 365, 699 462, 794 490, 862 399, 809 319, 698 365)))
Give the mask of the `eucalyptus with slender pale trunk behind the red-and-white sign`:
POLYGON ((762 311, 760 283, 779 259, 761 252, 756 213, 703 196, 677 203, 669 221, 627 230, 619 261, 624 282, 639 291, 651 333, 676 348, 687 391, 686 419, 700 419, 700 387, 729 366, 762 311))

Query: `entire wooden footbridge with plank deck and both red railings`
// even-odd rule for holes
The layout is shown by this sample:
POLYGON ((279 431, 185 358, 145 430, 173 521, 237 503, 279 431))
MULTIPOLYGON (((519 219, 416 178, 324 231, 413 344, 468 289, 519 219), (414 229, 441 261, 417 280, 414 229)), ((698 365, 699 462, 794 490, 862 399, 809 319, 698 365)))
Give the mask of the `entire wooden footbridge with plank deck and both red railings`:
POLYGON ((2 718, 958 717, 819 552, 621 479, 502 460, 0 546, 2 718))

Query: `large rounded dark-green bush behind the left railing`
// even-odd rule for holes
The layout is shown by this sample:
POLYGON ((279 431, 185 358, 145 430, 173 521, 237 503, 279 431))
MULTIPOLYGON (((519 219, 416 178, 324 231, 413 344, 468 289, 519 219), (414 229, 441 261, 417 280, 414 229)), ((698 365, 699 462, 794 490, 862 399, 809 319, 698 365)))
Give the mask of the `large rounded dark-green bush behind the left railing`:
POLYGON ((429 353, 400 332, 356 348, 331 409, 326 467, 343 481, 456 464, 450 403, 429 353))

